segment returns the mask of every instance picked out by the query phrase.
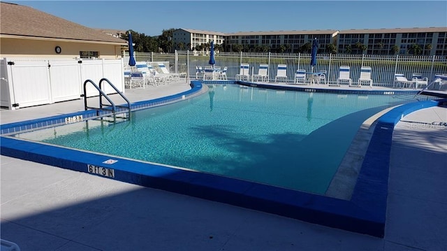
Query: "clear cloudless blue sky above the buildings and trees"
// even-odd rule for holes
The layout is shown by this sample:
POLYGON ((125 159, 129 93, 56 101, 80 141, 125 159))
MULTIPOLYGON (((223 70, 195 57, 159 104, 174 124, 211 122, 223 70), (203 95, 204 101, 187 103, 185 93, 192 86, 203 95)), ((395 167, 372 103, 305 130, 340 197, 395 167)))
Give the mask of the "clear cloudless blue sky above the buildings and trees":
POLYGON ((90 28, 293 31, 447 27, 447 1, 8 1, 90 28))

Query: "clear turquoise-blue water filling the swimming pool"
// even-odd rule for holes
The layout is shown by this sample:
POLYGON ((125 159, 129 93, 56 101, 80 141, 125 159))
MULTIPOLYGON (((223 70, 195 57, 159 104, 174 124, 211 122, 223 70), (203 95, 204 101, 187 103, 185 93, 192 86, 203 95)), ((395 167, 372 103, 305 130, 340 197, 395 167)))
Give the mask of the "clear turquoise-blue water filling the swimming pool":
POLYGON ((324 194, 358 127, 405 96, 210 85, 207 94, 18 138, 324 194))

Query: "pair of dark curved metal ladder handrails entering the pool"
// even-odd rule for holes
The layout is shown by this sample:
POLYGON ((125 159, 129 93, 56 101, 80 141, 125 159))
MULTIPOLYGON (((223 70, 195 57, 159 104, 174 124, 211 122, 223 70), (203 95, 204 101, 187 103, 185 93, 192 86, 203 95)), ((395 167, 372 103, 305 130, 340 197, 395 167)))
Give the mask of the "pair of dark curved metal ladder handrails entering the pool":
MULTIPOLYGON (((127 99, 122 92, 119 92, 119 90, 117 89, 117 87, 115 87, 115 85, 113 85, 112 83, 110 83, 110 81, 107 78, 101 78, 101 80, 99 80, 99 86, 96 85, 92 80, 85 80, 84 82, 84 108, 85 110, 90 109, 95 109, 96 110, 96 115, 100 116, 100 112, 101 111, 105 111, 105 112, 112 112, 112 117, 113 117, 113 122, 117 121, 117 114, 126 114, 128 113, 129 116, 128 117, 119 117, 119 118, 123 118, 123 119, 129 119, 131 117, 131 102, 129 101, 129 99, 127 99), (113 103, 112 99, 110 99, 110 97, 105 94, 105 92, 103 91, 102 88, 102 83, 103 82, 108 83, 113 89, 115 89, 115 91, 117 92, 117 94, 119 94, 119 96, 121 96, 127 103, 127 106, 117 106, 115 105, 115 103, 113 103), (87 106, 87 83, 91 83, 91 85, 93 85, 99 92, 99 107, 91 107, 91 106, 87 106), (103 97, 105 99, 107 99, 107 101, 109 103, 103 103, 103 97)), ((101 116, 102 117, 102 116, 101 116)))

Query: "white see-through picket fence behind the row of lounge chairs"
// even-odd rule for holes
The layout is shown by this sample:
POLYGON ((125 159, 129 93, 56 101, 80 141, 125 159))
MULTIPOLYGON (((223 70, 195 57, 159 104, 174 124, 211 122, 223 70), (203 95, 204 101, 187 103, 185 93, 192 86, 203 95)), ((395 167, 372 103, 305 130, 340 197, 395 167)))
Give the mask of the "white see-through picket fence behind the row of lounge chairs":
MULTIPOLYGON (((129 62, 129 54, 124 55, 124 64, 129 62)), ((170 71, 187 72, 189 78, 195 78, 196 66, 208 66, 210 59, 207 52, 175 51, 175 53, 135 52, 135 59, 140 62, 170 62, 170 71), (188 67, 189 66, 189 67, 188 67)), ((240 71, 240 64, 250 65, 250 75, 257 74, 259 64, 268 64, 268 80, 274 81, 278 64, 287 65, 288 81, 293 82, 295 71, 305 69, 312 71, 310 53, 252 53, 252 52, 216 52, 216 66, 227 67, 228 80, 235 80, 240 71)), ((374 86, 393 86, 394 74, 402 73, 411 78, 413 73, 422 73, 430 81, 437 73, 447 73, 445 56, 412 56, 412 55, 346 55, 318 54, 314 72, 327 71, 330 83, 337 82, 340 66, 351 67, 351 79, 357 82, 360 68, 370 66, 374 86)))

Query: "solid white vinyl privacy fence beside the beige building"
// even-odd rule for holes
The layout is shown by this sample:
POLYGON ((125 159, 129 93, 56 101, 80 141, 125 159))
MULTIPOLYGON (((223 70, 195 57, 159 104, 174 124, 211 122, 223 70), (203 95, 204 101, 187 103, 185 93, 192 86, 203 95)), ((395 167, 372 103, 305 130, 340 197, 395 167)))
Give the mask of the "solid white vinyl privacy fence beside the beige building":
MULTIPOLYGON (((107 78, 124 92, 123 64, 123 59, 3 58, 0 60, 1 106, 13 110, 80 99, 85 80, 98 85, 101 78, 107 78)), ((103 91, 115 93, 109 85, 103 91)), ((87 96, 96 95, 98 90, 87 85, 87 96)))

